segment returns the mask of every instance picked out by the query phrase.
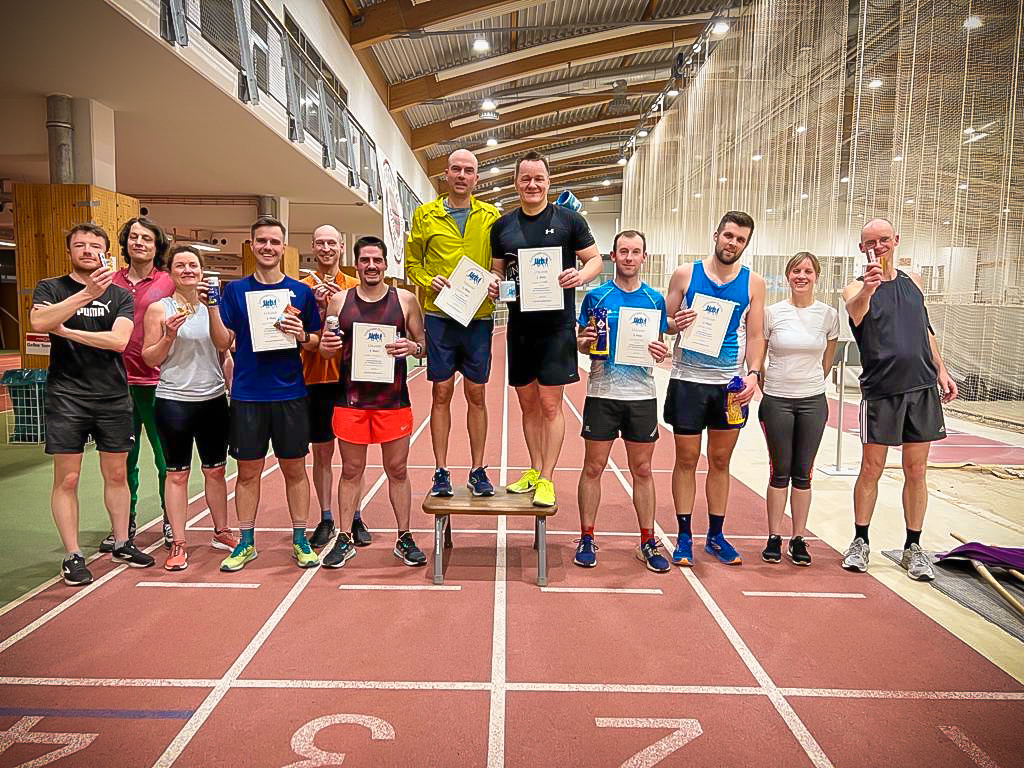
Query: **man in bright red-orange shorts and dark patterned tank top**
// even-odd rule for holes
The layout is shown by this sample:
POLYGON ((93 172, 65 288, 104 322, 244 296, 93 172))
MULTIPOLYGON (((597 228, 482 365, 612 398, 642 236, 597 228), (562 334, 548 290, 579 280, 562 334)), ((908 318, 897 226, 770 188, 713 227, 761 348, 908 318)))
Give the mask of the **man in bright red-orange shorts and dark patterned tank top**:
POLYGON ((331 299, 327 316, 337 318, 338 330, 325 329, 321 340, 325 357, 341 353, 334 409, 334 433, 341 451, 341 532, 324 565, 340 568, 355 555, 348 530, 362 496, 367 446, 375 442, 381 445, 388 497, 398 523, 394 556, 406 565, 426 565, 427 557, 409 530, 413 490, 407 472, 413 409, 406 357, 423 353, 423 315, 415 295, 384 282, 387 246, 382 240, 360 238, 353 251, 359 285, 331 299))

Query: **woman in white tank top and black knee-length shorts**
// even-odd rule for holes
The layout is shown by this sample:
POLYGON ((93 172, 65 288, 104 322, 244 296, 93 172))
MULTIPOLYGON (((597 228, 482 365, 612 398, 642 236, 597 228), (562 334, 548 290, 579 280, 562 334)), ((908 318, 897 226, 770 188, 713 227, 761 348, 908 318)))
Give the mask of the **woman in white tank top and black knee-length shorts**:
POLYGON ((145 312, 142 359, 160 367, 157 429, 167 459, 167 516, 173 543, 164 562, 168 570, 188 567, 185 515, 193 443, 206 478, 206 502, 213 517, 211 546, 230 551, 238 540, 227 525, 227 396, 220 354, 210 338, 209 310, 197 294, 203 262, 190 246, 170 250, 168 269, 174 293, 145 312))

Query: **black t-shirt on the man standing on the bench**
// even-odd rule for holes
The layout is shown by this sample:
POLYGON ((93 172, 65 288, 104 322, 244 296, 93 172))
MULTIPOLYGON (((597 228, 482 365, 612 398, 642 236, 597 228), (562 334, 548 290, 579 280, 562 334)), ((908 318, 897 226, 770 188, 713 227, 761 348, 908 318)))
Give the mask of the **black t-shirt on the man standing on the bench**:
MULTIPOLYGON (((549 204, 536 216, 521 208, 510 211, 490 226, 490 254, 505 260, 505 279, 516 282, 519 295, 519 249, 562 249, 562 269, 577 265, 577 251, 594 245, 587 219, 568 208, 549 204)), ((565 289, 564 306, 559 311, 520 312, 519 301, 510 301, 509 326, 512 328, 552 329, 575 324, 575 289, 565 289)))

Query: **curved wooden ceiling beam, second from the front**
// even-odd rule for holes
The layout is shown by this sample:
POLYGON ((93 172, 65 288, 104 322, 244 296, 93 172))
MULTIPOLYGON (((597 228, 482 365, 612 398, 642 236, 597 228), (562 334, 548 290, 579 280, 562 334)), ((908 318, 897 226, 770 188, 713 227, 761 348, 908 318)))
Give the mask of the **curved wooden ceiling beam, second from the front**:
MULTIPOLYGON (((433 5, 433 3, 426 3, 426 5, 433 5)), ((679 27, 657 28, 633 35, 595 40, 580 45, 568 45, 496 67, 481 68, 463 75, 453 77, 439 77, 443 73, 424 75, 403 83, 392 84, 389 106, 392 112, 402 112, 430 99, 446 98, 458 93, 500 85, 530 75, 556 70, 569 62, 580 65, 620 56, 624 51, 640 52, 673 45, 685 45, 693 42, 703 28, 702 22, 680 25, 679 27)), ((523 50, 529 49, 524 48, 523 50)))

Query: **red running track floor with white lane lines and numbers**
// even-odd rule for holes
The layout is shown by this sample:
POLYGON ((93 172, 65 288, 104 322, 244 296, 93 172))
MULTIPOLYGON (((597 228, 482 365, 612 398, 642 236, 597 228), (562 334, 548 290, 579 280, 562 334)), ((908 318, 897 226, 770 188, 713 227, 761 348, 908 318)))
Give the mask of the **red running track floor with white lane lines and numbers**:
MULTIPOLYGON (((514 392, 503 397, 501 334, 495 352, 486 456, 498 480, 503 457, 506 468, 527 458, 514 392)), ((420 425, 429 384, 420 375, 411 390, 420 425)), ((567 392, 577 411, 584 391, 567 392)), ((456 402, 451 463, 465 467, 456 402)), ((876 580, 841 570, 820 542, 811 542, 810 569, 762 563, 764 504, 738 482, 727 532, 741 567, 700 553, 692 570, 644 569, 633 555, 629 476, 613 470, 603 481, 600 564, 573 567, 583 444, 569 408, 565 418, 551 586, 632 592, 540 591, 530 521, 519 518, 455 518, 445 587, 458 589, 430 589, 429 568, 390 554, 393 517, 376 468, 364 517, 386 530, 340 570, 300 571, 273 470, 258 523, 280 530, 258 531, 260 558, 242 572, 217 570, 222 554, 205 546, 203 516, 186 571, 112 569, 104 557, 93 570, 105 581, 78 592, 55 585, 0 615, 0 768, 48 764, 31 761, 78 746, 55 764, 295 768, 339 765, 342 754, 345 768, 1024 764, 1024 686, 876 580), (419 589, 351 589, 370 585, 419 589)), ((664 433, 653 466, 670 534, 672 457, 664 433)), ((625 467, 621 445, 612 459, 625 467)), ((410 463, 422 494, 426 429, 410 463)), ((453 475, 462 481, 465 470, 453 475)), ((701 520, 702 493, 697 507, 701 520)), ((429 524, 414 510, 414 525, 429 524)), ((427 550, 430 535, 418 538, 427 550)))

